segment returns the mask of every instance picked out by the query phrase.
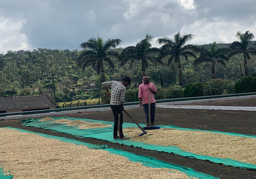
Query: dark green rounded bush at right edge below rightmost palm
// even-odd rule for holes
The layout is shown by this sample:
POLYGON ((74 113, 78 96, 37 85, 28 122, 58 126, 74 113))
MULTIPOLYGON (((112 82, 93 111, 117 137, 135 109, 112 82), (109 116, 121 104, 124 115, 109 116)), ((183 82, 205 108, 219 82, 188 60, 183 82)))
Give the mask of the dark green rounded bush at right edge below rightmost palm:
POLYGON ((235 93, 256 92, 256 74, 246 76, 235 83, 235 93))

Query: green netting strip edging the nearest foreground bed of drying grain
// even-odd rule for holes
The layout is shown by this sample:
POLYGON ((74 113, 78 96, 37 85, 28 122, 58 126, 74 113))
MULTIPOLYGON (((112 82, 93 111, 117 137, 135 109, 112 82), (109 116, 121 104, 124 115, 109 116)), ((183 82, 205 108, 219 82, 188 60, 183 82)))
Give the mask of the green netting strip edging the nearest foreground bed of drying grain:
MULTIPOLYGON (((82 141, 76 141, 76 140, 70 139, 68 137, 59 137, 59 136, 41 134, 41 133, 30 132, 30 131, 26 131, 26 130, 19 129, 19 128, 13 128, 13 127, 4 127, 4 128, 16 129, 16 130, 21 131, 21 132, 34 133, 34 134, 38 134, 38 135, 43 136, 43 137, 60 140, 62 142, 75 143, 77 145, 84 145, 84 146, 89 147, 91 149, 106 150, 106 151, 109 151, 110 153, 114 153, 114 154, 118 154, 120 156, 126 157, 130 161, 140 162, 143 166, 147 166, 147 167, 151 167, 151 168, 176 169, 176 170, 179 170, 180 172, 185 173, 185 174, 187 174, 188 176, 191 176, 191 177, 196 177, 196 178, 200 178, 200 179, 207 179, 207 178, 209 178, 209 179, 211 179, 211 178, 218 179, 217 177, 213 177, 211 175, 196 172, 194 169, 191 169, 191 168, 188 168, 188 167, 183 167, 183 166, 180 166, 180 165, 171 164, 171 163, 168 163, 168 162, 165 162, 165 161, 157 160, 156 158, 153 158, 153 157, 140 156, 140 155, 130 153, 130 152, 126 152, 126 151, 123 151, 123 150, 109 148, 107 145, 90 144, 90 143, 86 143, 86 142, 82 142, 82 141)), ((1 176, 1 170, 0 170, 0 176, 1 176)), ((6 178, 6 179, 9 179, 9 178, 6 178)))

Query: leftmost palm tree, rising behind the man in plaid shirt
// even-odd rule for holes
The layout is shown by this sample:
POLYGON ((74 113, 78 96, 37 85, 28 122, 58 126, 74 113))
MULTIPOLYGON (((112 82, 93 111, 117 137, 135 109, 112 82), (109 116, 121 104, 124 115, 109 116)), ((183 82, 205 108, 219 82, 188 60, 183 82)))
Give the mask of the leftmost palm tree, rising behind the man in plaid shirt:
POLYGON ((118 57, 119 54, 113 49, 121 43, 121 39, 110 38, 103 42, 103 39, 99 36, 98 38, 90 38, 87 42, 80 45, 85 51, 77 57, 78 66, 82 67, 83 70, 85 67, 93 66, 97 70, 97 74, 101 75, 101 83, 105 82, 103 62, 114 68, 114 63, 110 57, 118 57))

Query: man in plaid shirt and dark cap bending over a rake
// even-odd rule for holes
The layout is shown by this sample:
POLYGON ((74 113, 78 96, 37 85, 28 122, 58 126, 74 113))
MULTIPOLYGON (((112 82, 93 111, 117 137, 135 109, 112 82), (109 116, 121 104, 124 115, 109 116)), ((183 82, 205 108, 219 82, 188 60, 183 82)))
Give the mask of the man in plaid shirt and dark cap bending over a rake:
POLYGON ((107 95, 110 95, 110 108, 114 116, 114 139, 127 140, 130 137, 125 137, 123 134, 123 103, 126 92, 126 86, 131 85, 131 78, 125 76, 122 82, 110 81, 101 83, 102 88, 106 90, 107 95), (108 90, 111 87, 111 94, 108 90), (119 116, 120 115, 120 116, 119 116), (119 136, 117 135, 119 132, 119 136))

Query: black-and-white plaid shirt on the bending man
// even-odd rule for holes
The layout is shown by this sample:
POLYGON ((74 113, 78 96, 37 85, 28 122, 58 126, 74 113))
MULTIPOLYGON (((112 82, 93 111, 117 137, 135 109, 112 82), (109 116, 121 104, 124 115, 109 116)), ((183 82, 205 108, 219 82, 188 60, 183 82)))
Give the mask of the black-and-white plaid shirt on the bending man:
POLYGON ((101 83, 102 87, 110 87, 111 86, 111 98, 110 105, 119 105, 124 103, 124 97, 126 92, 126 87, 122 82, 103 82, 101 83))

